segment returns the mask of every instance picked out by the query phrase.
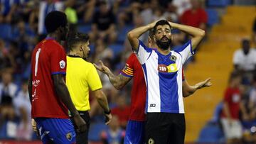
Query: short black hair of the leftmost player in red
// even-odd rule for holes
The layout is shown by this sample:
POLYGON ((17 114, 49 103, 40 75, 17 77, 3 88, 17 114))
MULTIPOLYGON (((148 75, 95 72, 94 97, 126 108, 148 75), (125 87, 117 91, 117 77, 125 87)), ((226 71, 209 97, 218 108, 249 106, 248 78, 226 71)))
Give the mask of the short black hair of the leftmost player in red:
POLYGON ((53 33, 60 26, 65 27, 68 24, 68 19, 65 13, 61 11, 51 11, 45 19, 47 33, 53 33))

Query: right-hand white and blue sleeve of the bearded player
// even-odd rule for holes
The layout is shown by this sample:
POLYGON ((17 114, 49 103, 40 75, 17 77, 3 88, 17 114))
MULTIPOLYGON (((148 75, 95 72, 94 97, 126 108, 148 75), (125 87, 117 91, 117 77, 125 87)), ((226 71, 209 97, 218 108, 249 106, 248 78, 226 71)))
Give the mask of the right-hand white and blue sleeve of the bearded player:
POLYGON ((182 45, 181 48, 178 48, 175 51, 181 54, 182 64, 184 64, 189 57, 191 57, 192 55, 195 55, 196 53, 195 50, 192 50, 191 40, 188 40, 188 42, 185 43, 185 45, 182 45))

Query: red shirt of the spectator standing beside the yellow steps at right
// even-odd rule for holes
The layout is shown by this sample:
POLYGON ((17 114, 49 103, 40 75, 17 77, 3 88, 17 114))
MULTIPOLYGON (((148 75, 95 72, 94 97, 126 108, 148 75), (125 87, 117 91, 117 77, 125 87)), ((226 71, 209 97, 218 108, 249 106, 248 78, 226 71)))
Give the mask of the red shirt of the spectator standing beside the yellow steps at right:
MULTIPOLYGON (((224 101, 228 104, 230 116, 233 119, 239 118, 240 99, 241 96, 239 88, 228 87, 228 89, 226 89, 224 101)), ((222 112, 222 117, 226 117, 224 111, 222 112)))

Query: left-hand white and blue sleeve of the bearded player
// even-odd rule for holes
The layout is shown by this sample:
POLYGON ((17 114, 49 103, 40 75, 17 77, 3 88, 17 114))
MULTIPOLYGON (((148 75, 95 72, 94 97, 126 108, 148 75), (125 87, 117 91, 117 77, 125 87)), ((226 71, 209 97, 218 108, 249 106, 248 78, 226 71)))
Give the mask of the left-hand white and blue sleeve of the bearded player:
POLYGON ((137 55, 139 62, 143 65, 146 60, 148 60, 149 56, 151 55, 152 49, 147 48, 144 43, 139 40, 139 47, 137 49, 137 52, 134 51, 134 53, 137 55))

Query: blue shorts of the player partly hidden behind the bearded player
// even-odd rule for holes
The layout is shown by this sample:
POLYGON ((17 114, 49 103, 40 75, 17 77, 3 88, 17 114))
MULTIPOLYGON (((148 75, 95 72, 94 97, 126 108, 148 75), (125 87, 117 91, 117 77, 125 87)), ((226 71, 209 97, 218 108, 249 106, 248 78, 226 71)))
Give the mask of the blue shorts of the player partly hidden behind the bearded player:
POLYGON ((124 137, 124 144, 144 144, 144 121, 129 120, 124 137))

